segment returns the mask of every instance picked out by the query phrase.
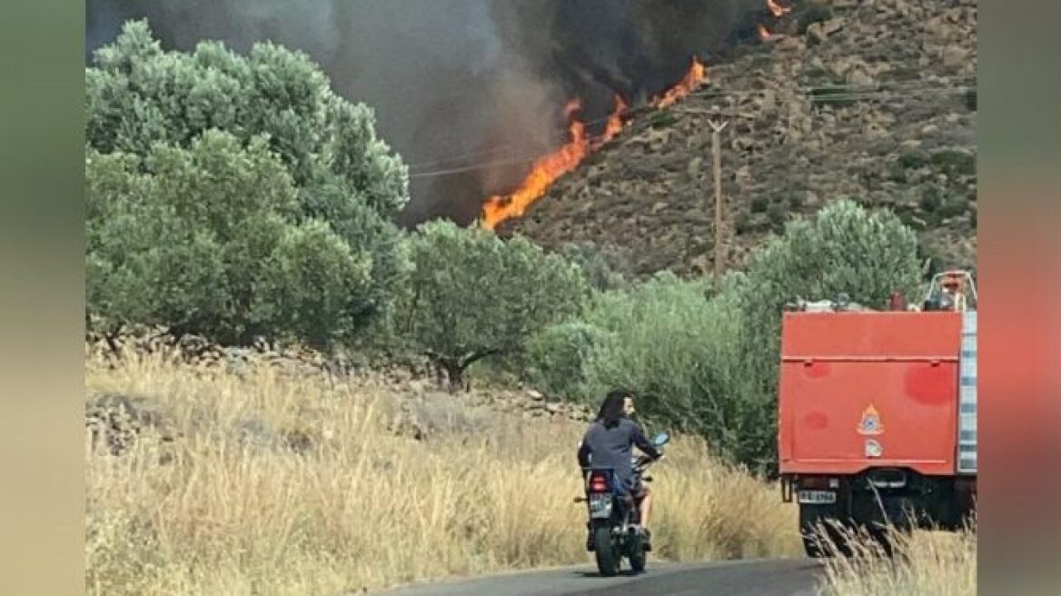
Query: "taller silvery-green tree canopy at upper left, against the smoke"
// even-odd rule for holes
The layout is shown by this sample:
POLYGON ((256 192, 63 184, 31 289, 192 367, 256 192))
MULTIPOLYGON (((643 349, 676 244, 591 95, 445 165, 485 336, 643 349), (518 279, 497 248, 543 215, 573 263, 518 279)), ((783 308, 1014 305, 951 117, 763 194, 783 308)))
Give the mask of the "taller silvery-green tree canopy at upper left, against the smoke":
POLYGON ((392 217, 408 200, 407 169, 376 136, 375 116, 329 88, 305 54, 257 43, 246 56, 218 41, 163 51, 144 21, 129 21, 85 72, 88 143, 146 155, 156 142, 187 147, 211 128, 242 142, 264 135, 295 187, 335 187, 392 217))

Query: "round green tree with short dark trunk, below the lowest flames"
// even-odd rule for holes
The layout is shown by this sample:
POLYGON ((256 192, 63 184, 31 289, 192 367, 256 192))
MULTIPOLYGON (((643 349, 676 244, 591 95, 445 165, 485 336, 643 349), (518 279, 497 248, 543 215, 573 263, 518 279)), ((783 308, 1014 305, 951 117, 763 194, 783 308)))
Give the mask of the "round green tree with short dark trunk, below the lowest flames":
POLYGON ((406 329, 459 384, 487 355, 521 351, 545 326, 577 313, 581 270, 530 242, 431 222, 411 238, 406 329))

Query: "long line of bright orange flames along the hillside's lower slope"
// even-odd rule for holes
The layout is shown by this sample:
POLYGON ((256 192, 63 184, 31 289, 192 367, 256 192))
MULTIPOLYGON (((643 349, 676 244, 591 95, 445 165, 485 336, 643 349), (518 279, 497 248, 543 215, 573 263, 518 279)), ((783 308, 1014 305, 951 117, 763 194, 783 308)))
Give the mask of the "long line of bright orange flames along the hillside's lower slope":
MULTIPOLYGON (((681 82, 651 102, 655 107, 666 107, 684 98, 696 89, 708 77, 707 69, 695 57, 693 64, 681 82)), ((563 108, 568 119, 570 140, 555 152, 538 158, 530 173, 511 194, 493 195, 483 205, 482 225, 494 229, 498 224, 511 217, 519 217, 526 208, 540 198, 554 180, 574 170, 592 151, 597 150, 626 126, 624 116, 628 109, 623 98, 615 95, 615 108, 605 125, 599 137, 589 139, 586 136, 586 124, 575 118, 581 109, 581 102, 572 100, 563 108)))

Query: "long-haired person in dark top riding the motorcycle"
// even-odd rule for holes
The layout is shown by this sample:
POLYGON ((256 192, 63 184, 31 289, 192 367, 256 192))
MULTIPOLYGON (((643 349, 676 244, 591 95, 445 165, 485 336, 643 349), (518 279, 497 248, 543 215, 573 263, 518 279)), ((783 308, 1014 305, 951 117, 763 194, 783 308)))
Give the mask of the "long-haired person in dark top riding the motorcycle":
MULTIPOLYGON (((630 392, 609 392, 601 404, 596 420, 586 431, 578 445, 578 464, 582 470, 589 468, 614 471, 619 481, 623 483, 639 505, 640 515, 636 520, 636 527, 646 547, 650 548, 648 513, 651 509, 651 494, 648 487, 634 476, 630 448, 637 445, 654 461, 663 457, 663 454, 645 437, 641 425, 630 419, 633 413, 633 396, 630 392)), ((586 545, 588 548, 593 546, 592 531, 586 545)))

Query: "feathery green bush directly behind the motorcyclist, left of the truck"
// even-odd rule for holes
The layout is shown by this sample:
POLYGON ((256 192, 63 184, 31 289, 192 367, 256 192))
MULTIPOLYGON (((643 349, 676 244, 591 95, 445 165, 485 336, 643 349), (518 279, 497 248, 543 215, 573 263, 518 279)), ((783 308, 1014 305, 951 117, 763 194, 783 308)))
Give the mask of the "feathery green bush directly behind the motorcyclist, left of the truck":
POLYGON ((674 430, 698 433, 718 453, 743 459, 768 428, 747 402, 740 354, 742 313, 732 292, 664 274, 624 292, 598 295, 578 321, 552 326, 532 341, 528 370, 541 388, 596 404, 624 387, 639 410, 674 430))

